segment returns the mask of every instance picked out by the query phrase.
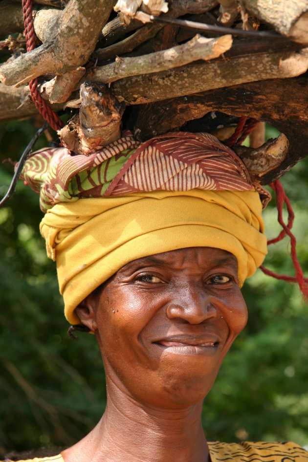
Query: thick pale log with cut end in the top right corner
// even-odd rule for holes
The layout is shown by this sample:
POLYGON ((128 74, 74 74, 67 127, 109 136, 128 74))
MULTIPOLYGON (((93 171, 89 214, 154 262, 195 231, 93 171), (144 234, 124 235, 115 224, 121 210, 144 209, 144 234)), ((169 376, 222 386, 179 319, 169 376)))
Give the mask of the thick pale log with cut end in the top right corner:
POLYGON ((295 42, 308 43, 308 0, 242 0, 246 10, 295 42))

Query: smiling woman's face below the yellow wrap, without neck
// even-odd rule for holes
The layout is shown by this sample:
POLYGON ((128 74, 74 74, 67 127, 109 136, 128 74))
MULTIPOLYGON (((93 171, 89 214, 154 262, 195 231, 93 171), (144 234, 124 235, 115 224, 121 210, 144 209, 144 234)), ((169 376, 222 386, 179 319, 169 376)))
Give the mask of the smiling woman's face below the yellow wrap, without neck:
POLYGON ((117 271, 86 299, 88 321, 77 308, 95 332, 107 383, 153 406, 202 400, 247 321, 237 272, 231 253, 209 247, 140 258, 117 271))

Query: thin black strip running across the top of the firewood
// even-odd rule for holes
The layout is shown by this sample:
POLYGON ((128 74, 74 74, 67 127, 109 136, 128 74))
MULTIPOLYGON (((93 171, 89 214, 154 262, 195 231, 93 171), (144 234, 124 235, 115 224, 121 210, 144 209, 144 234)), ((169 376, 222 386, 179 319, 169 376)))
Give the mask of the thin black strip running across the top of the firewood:
POLYGON ((223 27, 212 24, 204 24, 204 22, 187 21, 183 19, 161 18, 160 16, 150 16, 152 22, 166 22, 168 24, 176 24, 181 27, 188 27, 189 29, 206 30, 208 32, 218 32, 220 34, 231 34, 243 37, 282 37, 276 32, 256 31, 256 30, 242 30, 232 29, 231 27, 223 27))

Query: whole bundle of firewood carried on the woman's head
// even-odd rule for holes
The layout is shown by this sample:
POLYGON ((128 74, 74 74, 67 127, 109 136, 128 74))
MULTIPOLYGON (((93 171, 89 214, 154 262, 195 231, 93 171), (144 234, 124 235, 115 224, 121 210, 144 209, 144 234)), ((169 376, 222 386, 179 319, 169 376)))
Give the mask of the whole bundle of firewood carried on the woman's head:
POLYGON ((223 140, 245 115, 285 135, 238 150, 262 184, 308 154, 308 0, 35 0, 33 19, 26 53, 21 0, 0 2, 2 121, 37 112, 27 84, 38 78, 71 114, 61 136, 76 153, 119 136, 122 116, 139 140, 223 140))

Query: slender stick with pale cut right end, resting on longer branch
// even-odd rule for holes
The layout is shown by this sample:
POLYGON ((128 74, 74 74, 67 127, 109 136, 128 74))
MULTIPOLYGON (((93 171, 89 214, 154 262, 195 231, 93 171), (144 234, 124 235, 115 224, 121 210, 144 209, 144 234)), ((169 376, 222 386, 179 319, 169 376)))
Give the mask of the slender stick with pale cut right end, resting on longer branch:
POLYGON ((224 35, 217 39, 206 39, 197 34, 186 44, 177 45, 167 50, 135 58, 117 58, 115 63, 90 70, 88 77, 91 80, 111 83, 132 75, 161 72, 174 67, 185 66, 193 61, 217 58, 229 50, 231 45, 231 35, 224 35))

